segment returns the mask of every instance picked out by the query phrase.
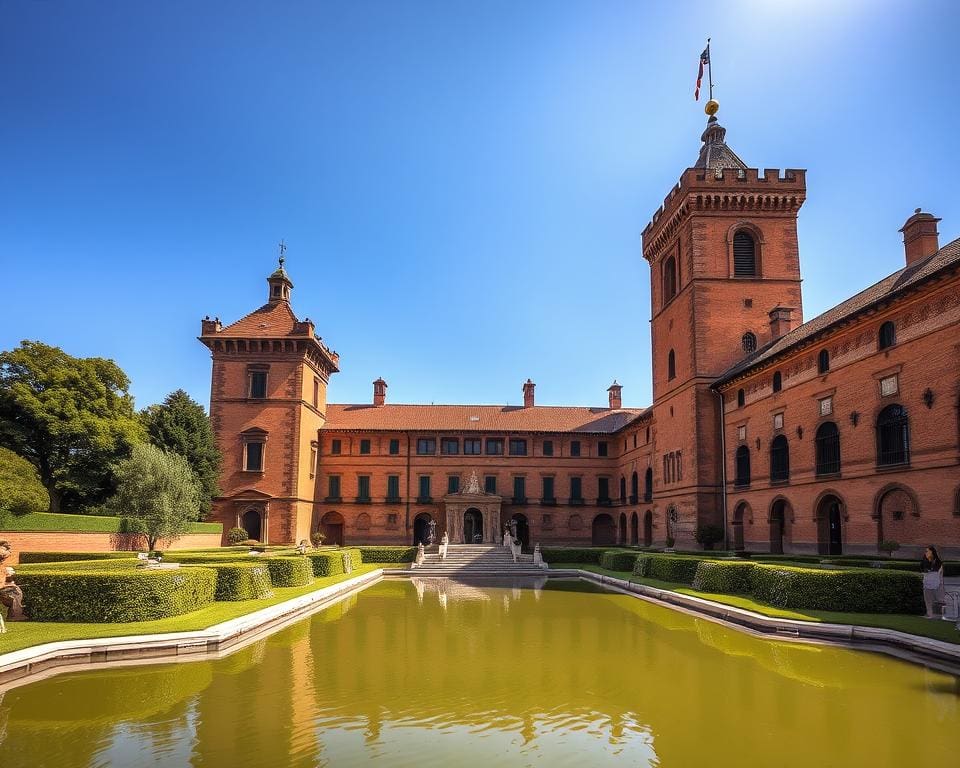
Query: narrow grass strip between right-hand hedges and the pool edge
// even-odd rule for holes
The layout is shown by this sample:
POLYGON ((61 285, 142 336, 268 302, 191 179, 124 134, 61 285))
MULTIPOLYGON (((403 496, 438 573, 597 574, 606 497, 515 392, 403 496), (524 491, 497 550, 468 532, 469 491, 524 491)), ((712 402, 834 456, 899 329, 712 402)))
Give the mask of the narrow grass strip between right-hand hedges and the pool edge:
POLYGON ((853 624, 859 627, 881 627, 883 629, 895 629, 899 632, 906 632, 920 637, 929 637, 933 640, 943 640, 947 643, 960 645, 960 631, 957 630, 954 622, 941 621, 939 619, 925 619, 922 616, 906 616, 903 614, 889 613, 839 613, 837 611, 790 611, 782 608, 774 608, 771 605, 758 603, 749 597, 742 595, 718 595, 710 592, 698 592, 686 584, 675 584, 670 581, 659 581, 658 579, 640 578, 627 571, 609 571, 596 565, 584 565, 583 563, 557 563, 551 565, 551 568, 579 568, 584 571, 601 573, 605 576, 611 576, 616 579, 624 579, 636 584, 644 584, 655 589, 669 590, 678 592, 682 595, 691 595, 704 600, 710 600, 714 603, 722 603, 735 608, 743 608, 764 616, 770 616, 776 619, 793 619, 796 621, 812 621, 827 624, 853 624))

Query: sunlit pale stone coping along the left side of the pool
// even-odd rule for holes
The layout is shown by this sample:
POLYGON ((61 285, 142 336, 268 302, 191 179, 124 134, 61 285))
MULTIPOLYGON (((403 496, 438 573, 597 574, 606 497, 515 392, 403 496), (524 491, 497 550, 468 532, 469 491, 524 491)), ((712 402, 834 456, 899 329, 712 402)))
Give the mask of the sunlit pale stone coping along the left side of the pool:
POLYGON ((252 642, 318 608, 333 605, 382 578, 383 569, 378 568, 206 629, 60 640, 10 651, 0 655, 0 693, 8 687, 32 682, 39 677, 83 669, 93 664, 176 661, 181 656, 223 651, 238 643, 252 642))

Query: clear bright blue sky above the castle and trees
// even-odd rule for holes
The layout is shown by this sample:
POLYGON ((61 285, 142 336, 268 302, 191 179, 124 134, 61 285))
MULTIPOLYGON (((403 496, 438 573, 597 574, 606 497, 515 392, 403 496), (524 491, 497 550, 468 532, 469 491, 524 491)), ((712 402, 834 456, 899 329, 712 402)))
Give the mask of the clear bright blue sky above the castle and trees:
POLYGON ((650 402, 640 233, 720 122, 807 168, 807 319, 960 236, 960 4, 0 0, 0 349, 209 399, 200 319, 293 306, 332 402, 650 402))

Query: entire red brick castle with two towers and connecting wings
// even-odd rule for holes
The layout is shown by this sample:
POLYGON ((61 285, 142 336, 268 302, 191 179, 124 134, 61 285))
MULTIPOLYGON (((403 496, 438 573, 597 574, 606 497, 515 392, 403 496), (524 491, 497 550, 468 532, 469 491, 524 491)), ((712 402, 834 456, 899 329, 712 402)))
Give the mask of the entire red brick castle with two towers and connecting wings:
POLYGON ((919 209, 905 266, 804 323, 802 170, 748 168, 711 116, 643 231, 653 404, 327 403, 339 358, 283 268, 233 325, 204 320, 224 529, 268 543, 497 540, 960 555, 960 240, 919 209))

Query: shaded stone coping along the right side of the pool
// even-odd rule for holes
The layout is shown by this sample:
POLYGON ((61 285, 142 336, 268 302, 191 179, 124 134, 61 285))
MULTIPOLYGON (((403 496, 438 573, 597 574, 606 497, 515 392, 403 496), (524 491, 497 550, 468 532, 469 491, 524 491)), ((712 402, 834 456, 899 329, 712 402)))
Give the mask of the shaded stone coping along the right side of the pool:
POLYGON ((880 651, 906 661, 934 666, 951 674, 960 672, 960 645, 911 635, 883 627, 861 627, 854 624, 830 624, 777 618, 748 611, 702 597, 684 595, 666 589, 638 584, 579 568, 550 569, 551 576, 578 576, 649 602, 666 605, 697 616, 703 616, 760 636, 775 635, 779 640, 839 644, 862 650, 880 651))

